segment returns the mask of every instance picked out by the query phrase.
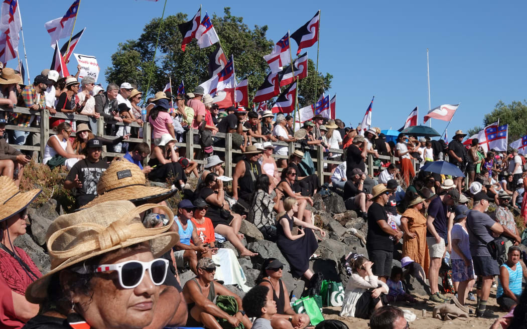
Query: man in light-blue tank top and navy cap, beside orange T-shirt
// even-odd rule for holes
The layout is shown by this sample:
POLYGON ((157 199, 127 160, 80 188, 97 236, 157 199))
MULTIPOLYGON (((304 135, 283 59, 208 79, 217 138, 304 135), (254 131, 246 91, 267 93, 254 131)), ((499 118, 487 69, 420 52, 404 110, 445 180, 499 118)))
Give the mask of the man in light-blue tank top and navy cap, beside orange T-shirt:
POLYGON ((178 205, 178 216, 174 218, 174 223, 178 225, 179 242, 175 244, 175 262, 179 268, 186 263, 190 265, 190 270, 198 274, 196 266, 198 259, 203 254, 209 253, 209 247, 204 245, 198 237, 196 227, 191 218, 194 205, 190 200, 181 200, 178 205), (190 243, 192 241, 192 243, 190 243))

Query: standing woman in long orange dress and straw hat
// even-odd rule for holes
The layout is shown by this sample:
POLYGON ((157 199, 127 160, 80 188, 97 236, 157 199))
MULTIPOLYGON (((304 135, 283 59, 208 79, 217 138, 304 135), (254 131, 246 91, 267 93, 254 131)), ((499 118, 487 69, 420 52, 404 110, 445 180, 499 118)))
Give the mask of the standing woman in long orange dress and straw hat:
POLYGON ((403 257, 410 257, 423 268, 430 267, 430 254, 426 243, 426 200, 420 196, 408 204, 408 208, 401 216, 403 229, 403 257))

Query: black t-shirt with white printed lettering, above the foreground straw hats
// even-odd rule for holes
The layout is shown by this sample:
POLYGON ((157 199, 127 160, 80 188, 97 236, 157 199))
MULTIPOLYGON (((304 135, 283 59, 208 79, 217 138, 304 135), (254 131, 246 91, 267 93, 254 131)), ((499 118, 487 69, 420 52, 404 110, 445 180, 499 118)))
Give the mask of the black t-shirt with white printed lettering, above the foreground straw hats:
POLYGON ((101 159, 95 163, 88 159, 82 159, 73 165, 66 176, 66 181, 73 182, 75 176, 79 175, 82 187, 76 189, 75 201, 77 206, 83 206, 97 196, 97 183, 99 183, 102 173, 106 171, 108 166, 109 164, 101 159))

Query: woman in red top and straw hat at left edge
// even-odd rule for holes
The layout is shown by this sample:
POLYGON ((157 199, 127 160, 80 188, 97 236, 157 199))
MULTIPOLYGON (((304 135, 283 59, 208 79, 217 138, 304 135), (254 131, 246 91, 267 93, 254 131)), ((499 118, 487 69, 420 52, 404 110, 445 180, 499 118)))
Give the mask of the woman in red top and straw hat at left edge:
POLYGON ((0 327, 21 328, 38 313, 38 305, 26 301, 27 286, 42 276, 15 239, 26 233, 27 206, 42 190, 21 193, 6 176, 0 177, 0 327))

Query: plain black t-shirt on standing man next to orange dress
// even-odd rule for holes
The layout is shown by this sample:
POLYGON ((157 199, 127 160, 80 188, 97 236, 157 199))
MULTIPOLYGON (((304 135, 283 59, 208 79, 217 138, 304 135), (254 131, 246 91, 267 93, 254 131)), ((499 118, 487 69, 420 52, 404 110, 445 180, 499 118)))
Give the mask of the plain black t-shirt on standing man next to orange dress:
POLYGON ((386 221, 388 224, 388 215, 384 207, 374 202, 368 208, 368 235, 366 236, 367 250, 385 250, 394 251, 394 243, 390 235, 380 228, 377 221, 386 221))

